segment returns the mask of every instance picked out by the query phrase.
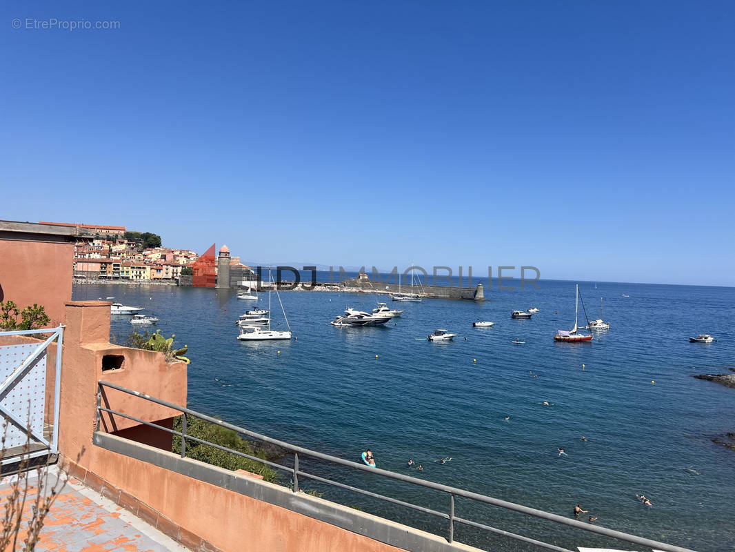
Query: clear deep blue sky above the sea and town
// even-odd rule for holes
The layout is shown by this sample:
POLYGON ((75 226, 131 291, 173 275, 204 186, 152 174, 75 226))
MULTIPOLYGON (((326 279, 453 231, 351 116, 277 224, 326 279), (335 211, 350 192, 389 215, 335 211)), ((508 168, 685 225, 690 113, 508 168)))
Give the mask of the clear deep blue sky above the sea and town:
POLYGON ((735 285, 731 0, 0 13, 0 218, 253 261, 735 285))

